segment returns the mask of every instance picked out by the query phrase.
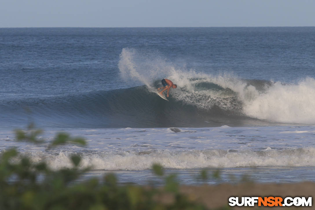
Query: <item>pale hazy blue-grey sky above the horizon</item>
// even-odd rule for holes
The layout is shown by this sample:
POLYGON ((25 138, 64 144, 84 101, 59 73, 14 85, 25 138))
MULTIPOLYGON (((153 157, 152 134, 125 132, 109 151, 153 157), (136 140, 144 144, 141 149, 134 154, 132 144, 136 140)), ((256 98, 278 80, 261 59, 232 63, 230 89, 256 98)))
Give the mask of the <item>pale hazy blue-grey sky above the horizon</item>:
POLYGON ((315 26, 315 0, 1 0, 0 27, 315 26))

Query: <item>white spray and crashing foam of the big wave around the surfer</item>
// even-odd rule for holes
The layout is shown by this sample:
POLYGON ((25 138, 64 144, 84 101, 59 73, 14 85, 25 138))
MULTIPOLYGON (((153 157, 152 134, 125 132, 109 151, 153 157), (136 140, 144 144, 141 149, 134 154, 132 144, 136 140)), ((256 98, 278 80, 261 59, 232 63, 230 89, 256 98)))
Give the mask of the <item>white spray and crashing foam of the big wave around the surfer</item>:
POLYGON ((146 85, 150 92, 158 87, 154 79, 164 76, 177 81, 179 88, 171 89, 171 98, 207 112, 218 108, 230 115, 271 123, 315 124, 314 78, 306 77, 295 84, 246 80, 227 73, 198 73, 156 57, 123 49, 118 65, 122 77, 128 83, 146 85))

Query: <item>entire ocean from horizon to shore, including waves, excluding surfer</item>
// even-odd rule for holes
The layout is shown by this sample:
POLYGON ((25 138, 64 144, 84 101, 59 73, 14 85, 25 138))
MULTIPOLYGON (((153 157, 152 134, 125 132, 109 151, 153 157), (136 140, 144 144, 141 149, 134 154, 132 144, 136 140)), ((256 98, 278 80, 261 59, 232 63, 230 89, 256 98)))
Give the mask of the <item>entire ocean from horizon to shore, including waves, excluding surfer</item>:
POLYGON ((183 184, 315 181, 315 27, 0 28, 0 73, 0 153, 137 184, 153 163, 183 184), (31 122, 44 143, 15 141, 31 122), (47 149, 61 131, 88 145, 47 149))

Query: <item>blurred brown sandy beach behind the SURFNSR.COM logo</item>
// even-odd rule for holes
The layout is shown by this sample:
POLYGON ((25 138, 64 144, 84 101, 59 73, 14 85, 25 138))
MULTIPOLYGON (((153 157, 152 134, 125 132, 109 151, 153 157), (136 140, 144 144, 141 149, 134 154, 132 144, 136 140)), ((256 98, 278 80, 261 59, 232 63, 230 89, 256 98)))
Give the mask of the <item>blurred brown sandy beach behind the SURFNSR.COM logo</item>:
MULTIPOLYGON (((241 184, 217 184, 202 186, 181 186, 180 191, 188 195, 191 200, 202 202, 210 209, 227 207, 228 198, 233 197, 314 197, 315 183, 287 183, 287 184, 258 184, 258 183, 241 183, 241 184)), ((232 207, 232 208, 271 208, 271 207, 232 207)), ((281 207, 272 207, 272 209, 281 209, 281 207)), ((286 209, 315 209, 312 207, 286 207, 286 209)))

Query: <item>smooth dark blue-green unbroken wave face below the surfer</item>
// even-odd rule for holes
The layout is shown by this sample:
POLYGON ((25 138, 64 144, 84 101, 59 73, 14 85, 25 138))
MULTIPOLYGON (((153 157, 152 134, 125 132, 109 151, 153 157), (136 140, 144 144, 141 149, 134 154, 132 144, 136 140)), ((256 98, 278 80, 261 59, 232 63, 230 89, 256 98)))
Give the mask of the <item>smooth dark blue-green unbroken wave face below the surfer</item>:
MULTIPOLYGON (((224 94, 215 84, 209 91, 224 94), (220 93, 222 92, 222 93, 220 93)), ((9 100, 2 106, 7 120, 29 119, 25 109, 31 110, 31 119, 39 124, 83 127, 202 127, 231 124, 240 117, 241 103, 236 96, 213 98, 187 90, 170 93, 169 102, 161 99, 146 86, 129 89, 89 92, 86 94, 9 100), (180 94, 181 93, 181 94, 180 94), (187 101, 184 96, 194 97, 187 101), (181 99, 183 97, 183 99, 181 99)), ((232 94, 232 93, 231 93, 232 94)), ((15 122, 16 123, 16 122, 15 122)))

